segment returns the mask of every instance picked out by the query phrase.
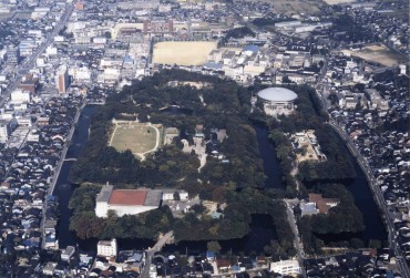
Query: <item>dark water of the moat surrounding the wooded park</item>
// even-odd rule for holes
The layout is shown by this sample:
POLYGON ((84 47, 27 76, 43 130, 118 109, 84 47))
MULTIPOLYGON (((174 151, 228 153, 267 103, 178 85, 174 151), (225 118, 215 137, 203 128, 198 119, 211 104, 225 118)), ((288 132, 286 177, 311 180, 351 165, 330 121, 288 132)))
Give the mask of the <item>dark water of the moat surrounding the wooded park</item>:
MULTIPOLYGON (((86 106, 82 111, 66 158, 76 158, 81 155, 89 137, 90 120, 95 109, 95 106, 86 106)), ((265 185, 270 188, 283 188, 275 151, 271 142, 267 137, 268 131, 263 125, 254 125, 254 128, 258 140, 259 152, 264 161, 264 172, 267 176, 265 185)), ((64 248, 68 245, 79 245, 81 249, 94 250, 96 248, 96 239, 81 240, 75 237, 74 233, 69 230, 71 212, 68 208, 68 205, 76 186, 70 184, 68 181, 72 163, 74 162, 64 162, 53 192, 53 194, 60 199, 61 215, 58 224, 59 245, 60 248, 64 248)), ((363 213, 365 224, 367 226, 363 236, 370 238, 383 238, 386 233, 382 233, 382 223, 377 213, 375 202, 371 197, 371 192, 369 191, 368 184, 360 168, 357 169, 357 173, 358 178, 349 186, 349 188, 355 187, 350 191, 353 194, 358 207, 363 213), (368 225, 370 223, 371 227, 368 225), (381 229, 379 227, 381 227, 381 229)), ((274 239, 275 237, 274 227, 270 225, 271 220, 268 218, 270 218, 270 216, 254 215, 250 224, 250 233, 246 237, 219 241, 223 251, 244 251, 245 254, 249 254, 252 251, 256 251, 257 254, 262 253, 264 246, 268 245, 270 239, 274 239)), ((120 248, 127 249, 145 249, 153 246, 153 244, 154 243, 152 240, 147 239, 119 239, 120 248)), ((189 254, 194 251, 204 253, 206 250, 206 241, 182 241, 177 245, 166 246, 164 250, 178 251, 180 254, 185 254, 186 251, 189 254)))

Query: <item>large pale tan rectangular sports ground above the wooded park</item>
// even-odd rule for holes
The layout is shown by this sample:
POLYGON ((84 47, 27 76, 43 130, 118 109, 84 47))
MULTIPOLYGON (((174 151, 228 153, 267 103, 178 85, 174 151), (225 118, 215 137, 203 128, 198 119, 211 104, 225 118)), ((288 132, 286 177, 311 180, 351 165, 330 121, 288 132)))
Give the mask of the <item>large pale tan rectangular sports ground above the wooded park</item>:
POLYGON ((216 49, 213 41, 163 41, 154 45, 153 63, 202 65, 216 49))

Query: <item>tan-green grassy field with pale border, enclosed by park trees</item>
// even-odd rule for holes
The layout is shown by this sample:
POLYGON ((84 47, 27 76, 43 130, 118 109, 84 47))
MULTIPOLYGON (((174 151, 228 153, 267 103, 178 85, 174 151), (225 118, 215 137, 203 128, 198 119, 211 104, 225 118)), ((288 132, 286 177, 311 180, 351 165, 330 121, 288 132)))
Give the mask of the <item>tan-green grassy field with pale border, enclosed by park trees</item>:
POLYGON ((141 123, 115 123, 109 145, 123 152, 130 150, 143 157, 145 153, 155 152, 161 145, 162 128, 141 123))

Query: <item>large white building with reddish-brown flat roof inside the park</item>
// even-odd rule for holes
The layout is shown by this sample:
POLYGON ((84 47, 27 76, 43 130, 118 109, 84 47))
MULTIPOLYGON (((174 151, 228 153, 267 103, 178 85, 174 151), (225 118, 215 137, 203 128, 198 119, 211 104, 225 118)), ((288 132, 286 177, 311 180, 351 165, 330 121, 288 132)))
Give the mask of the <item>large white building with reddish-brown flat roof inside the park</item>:
POLYGON ((95 215, 107 217, 109 210, 117 216, 137 215, 161 205, 162 192, 153 189, 114 189, 105 185, 96 196, 95 215))

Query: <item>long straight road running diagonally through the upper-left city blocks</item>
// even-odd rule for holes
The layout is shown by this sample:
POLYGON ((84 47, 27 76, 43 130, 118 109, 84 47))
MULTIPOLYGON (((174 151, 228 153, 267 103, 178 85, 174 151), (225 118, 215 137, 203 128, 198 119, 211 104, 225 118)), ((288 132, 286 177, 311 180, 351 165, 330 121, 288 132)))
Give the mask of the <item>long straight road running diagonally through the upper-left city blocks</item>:
POLYGON ((34 66, 35 60, 44 52, 44 50, 50 47, 53 42, 54 37, 59 34, 59 32, 65 27, 65 23, 69 21, 71 13, 73 12, 74 7, 72 4, 66 4, 65 10, 61 17, 59 23, 57 23, 54 30, 49 33, 44 40, 44 42, 35 50, 35 52, 25 60, 22 64, 18 65, 16 69, 16 76, 13 81, 9 84, 7 91, 1 96, 0 100, 0 107, 4 105, 7 100, 10 97, 12 91, 16 90, 20 80, 34 66))

